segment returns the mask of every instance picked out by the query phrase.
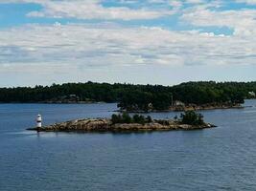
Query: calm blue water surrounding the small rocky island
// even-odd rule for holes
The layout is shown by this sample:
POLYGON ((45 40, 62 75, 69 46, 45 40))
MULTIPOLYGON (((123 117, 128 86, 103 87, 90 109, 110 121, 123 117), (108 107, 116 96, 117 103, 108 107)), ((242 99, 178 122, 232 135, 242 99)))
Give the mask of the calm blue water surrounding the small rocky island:
MULTIPOLYGON (((202 131, 75 134, 24 131, 45 123, 110 117, 115 104, 0 105, 0 190, 256 190, 254 107, 202 112, 202 131)), ((174 117, 175 113, 151 114, 174 117)))

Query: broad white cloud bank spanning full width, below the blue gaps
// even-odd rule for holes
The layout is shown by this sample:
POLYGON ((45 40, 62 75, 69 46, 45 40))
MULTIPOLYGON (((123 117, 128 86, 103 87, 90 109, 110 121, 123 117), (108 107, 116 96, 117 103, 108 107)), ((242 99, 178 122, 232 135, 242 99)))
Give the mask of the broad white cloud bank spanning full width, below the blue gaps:
POLYGON ((31 25, 0 31, 0 73, 28 70, 183 65, 254 65, 256 40, 160 28, 31 25), (59 67, 59 66, 62 66, 59 67))

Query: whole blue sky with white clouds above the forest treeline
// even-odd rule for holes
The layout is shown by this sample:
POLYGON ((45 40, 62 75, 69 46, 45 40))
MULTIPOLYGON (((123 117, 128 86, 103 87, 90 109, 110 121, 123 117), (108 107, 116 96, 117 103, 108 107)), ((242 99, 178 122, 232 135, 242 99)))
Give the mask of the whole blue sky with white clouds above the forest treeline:
POLYGON ((0 87, 256 80, 256 0, 0 0, 0 87))

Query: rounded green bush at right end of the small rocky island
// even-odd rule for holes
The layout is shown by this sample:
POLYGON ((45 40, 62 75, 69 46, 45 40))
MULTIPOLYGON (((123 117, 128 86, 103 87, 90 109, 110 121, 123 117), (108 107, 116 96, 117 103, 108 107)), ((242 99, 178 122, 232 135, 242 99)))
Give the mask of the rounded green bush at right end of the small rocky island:
POLYGON ((195 111, 186 111, 185 114, 180 115, 180 120, 183 124, 189 125, 202 125, 204 123, 203 116, 195 111))

